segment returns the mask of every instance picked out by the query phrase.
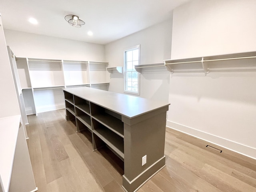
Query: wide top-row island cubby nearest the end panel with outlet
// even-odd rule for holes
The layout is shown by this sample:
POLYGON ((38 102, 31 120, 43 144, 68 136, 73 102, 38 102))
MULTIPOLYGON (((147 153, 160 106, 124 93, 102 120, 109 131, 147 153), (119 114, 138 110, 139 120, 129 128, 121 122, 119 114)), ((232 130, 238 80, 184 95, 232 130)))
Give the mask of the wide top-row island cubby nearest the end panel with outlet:
POLYGON ((118 136, 124 138, 124 123, 122 122, 122 116, 106 108, 91 103, 92 118, 106 126, 112 132, 118 134, 118 136))

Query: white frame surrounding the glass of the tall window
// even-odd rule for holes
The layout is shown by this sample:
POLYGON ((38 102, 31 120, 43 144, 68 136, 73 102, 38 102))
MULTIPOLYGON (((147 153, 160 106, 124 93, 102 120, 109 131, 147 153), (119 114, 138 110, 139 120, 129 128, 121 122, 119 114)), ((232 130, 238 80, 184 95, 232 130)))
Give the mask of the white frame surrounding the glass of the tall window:
POLYGON ((138 73, 138 92, 126 90, 126 52, 138 49, 138 65, 140 64, 140 45, 136 45, 124 50, 124 93, 140 95, 140 73, 138 73))

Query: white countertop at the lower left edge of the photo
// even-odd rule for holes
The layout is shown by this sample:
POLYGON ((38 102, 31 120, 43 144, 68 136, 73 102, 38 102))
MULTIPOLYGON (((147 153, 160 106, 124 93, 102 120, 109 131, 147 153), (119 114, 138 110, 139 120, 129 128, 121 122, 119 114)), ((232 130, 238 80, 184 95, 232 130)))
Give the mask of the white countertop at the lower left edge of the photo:
POLYGON ((0 118, 0 175, 8 192, 20 126, 20 115, 0 118))

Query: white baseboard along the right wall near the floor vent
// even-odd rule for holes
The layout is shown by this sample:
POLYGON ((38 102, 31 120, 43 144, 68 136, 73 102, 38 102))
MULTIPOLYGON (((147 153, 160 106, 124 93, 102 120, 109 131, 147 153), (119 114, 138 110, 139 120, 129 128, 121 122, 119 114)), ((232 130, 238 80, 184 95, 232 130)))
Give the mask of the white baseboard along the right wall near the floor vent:
POLYGON ((228 150, 237 152, 239 154, 242 154, 244 156, 247 156, 256 160, 256 148, 246 146, 246 145, 243 145, 225 138, 221 138, 219 136, 215 136, 200 130, 196 130, 194 128, 190 128, 181 124, 177 124, 169 120, 166 121, 166 126, 168 128, 172 128, 174 130, 186 133, 188 135, 205 140, 207 142, 211 142, 213 144, 216 144, 218 146, 221 146, 223 148, 226 148, 228 150))

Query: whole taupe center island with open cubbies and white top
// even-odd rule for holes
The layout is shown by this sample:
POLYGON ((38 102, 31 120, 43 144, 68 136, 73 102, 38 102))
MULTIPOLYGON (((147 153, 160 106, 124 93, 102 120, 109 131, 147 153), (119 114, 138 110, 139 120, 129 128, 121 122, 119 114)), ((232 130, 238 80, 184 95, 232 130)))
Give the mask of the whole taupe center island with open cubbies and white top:
POLYGON ((124 161, 125 191, 138 190, 165 166, 168 103, 89 87, 63 90, 66 120, 92 132, 93 150, 106 145, 124 161))

